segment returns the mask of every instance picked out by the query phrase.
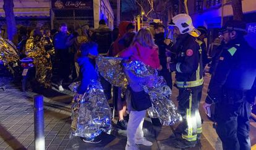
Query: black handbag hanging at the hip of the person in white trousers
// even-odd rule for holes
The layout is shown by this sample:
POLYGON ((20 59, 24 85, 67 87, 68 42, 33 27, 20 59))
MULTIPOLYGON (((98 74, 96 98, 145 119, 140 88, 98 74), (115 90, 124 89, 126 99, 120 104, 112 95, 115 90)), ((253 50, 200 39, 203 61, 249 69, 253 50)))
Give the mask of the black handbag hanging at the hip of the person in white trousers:
POLYGON ((130 102, 132 104, 132 108, 136 111, 145 111, 152 106, 149 95, 144 91, 134 92, 129 87, 130 90, 130 102))

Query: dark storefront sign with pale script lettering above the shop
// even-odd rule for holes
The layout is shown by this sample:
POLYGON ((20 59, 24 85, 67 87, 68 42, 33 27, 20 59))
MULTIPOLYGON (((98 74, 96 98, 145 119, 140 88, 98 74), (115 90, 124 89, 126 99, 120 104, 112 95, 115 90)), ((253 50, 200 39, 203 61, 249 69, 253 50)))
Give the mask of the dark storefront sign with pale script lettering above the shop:
POLYGON ((52 0, 52 9, 93 9, 93 0, 52 0))

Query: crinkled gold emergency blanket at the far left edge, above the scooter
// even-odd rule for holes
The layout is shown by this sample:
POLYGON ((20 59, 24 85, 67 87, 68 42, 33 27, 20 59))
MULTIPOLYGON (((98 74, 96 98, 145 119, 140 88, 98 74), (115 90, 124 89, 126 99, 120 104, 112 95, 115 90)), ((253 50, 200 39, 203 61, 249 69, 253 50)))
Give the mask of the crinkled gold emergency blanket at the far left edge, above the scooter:
POLYGON ((15 45, 8 39, 3 39, 0 37, 0 60, 4 63, 4 66, 14 73, 13 69, 18 66, 19 63, 19 53, 15 45))

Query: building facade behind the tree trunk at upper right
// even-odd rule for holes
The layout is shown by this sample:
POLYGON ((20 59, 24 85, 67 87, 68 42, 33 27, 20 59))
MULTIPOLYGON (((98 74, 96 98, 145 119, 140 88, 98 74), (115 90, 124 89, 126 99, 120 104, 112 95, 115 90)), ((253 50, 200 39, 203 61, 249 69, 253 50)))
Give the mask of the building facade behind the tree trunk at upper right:
MULTIPOLYGON (((221 24, 233 19, 232 0, 189 0, 189 15, 194 26, 205 26, 209 31, 208 44, 212 44, 218 37, 221 24), (222 4, 223 2, 223 4, 222 4), (223 7, 222 7, 223 6, 223 7)), ((255 0, 242 0, 244 21, 247 23, 247 36, 249 44, 256 47, 256 2, 255 0)))

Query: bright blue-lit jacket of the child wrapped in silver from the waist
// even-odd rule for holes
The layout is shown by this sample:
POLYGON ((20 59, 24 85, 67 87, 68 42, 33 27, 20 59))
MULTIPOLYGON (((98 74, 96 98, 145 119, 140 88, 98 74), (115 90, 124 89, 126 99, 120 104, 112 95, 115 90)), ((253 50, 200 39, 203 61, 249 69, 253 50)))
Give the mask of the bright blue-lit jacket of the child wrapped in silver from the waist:
POLYGON ((79 63, 80 66, 81 77, 81 84, 79 85, 77 93, 83 94, 86 92, 90 81, 98 79, 98 74, 95 71, 95 63, 93 63, 92 59, 88 57, 80 57, 77 59, 77 63, 79 63))

